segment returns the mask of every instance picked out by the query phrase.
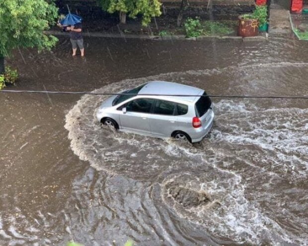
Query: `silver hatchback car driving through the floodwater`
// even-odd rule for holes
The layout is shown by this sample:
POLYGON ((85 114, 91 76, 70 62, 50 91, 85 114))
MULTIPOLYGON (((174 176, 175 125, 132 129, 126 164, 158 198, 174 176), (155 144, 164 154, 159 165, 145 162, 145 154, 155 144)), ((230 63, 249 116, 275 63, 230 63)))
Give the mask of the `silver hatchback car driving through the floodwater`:
POLYGON ((99 122, 121 131, 189 142, 201 141, 213 125, 213 104, 202 89, 151 81, 121 94, 97 109, 99 122))

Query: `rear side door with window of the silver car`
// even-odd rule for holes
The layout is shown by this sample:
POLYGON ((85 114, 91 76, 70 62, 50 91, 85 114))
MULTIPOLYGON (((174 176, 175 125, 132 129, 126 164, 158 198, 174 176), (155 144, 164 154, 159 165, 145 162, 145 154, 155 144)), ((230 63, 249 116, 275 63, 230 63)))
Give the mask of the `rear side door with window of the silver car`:
POLYGON ((169 137, 176 129, 175 103, 165 100, 155 100, 150 117, 151 133, 157 136, 169 137))

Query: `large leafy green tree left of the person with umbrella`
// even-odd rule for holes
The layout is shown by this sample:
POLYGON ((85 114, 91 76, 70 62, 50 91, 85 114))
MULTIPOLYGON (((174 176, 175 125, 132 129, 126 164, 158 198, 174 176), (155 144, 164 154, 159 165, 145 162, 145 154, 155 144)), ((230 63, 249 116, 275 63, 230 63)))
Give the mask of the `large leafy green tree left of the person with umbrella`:
POLYGON ((52 0, 0 0, 0 74, 15 48, 51 49, 57 38, 44 33, 58 16, 52 0))

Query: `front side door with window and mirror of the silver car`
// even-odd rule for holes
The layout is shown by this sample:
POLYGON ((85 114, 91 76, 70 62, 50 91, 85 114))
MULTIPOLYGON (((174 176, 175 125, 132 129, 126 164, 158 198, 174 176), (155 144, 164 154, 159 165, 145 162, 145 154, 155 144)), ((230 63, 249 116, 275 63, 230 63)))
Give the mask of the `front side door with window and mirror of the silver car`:
POLYGON ((121 127, 140 133, 150 133, 149 113, 153 101, 151 98, 138 98, 122 105, 118 110, 126 108, 126 112, 120 113, 121 127))

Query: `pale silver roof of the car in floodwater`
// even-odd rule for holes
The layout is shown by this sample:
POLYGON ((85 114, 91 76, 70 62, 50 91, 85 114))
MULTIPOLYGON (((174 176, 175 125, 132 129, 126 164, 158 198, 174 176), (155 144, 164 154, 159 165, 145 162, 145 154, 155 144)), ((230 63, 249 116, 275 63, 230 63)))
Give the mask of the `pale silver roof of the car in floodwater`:
MULTIPOLYGON (((139 92, 139 94, 149 95, 202 95, 204 90, 189 85, 178 84, 167 81, 150 81, 139 92)), ((159 96, 160 99, 176 101, 195 102, 199 96, 159 96)))

